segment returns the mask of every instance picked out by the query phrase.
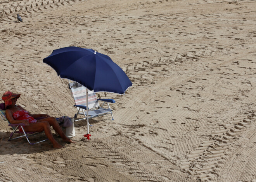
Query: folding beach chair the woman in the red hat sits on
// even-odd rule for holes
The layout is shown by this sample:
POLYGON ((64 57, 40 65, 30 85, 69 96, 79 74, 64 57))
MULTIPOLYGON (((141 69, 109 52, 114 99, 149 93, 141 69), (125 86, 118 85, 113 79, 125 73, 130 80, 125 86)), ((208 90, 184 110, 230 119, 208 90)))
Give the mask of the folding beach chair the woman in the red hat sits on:
MULTIPOLYGON (((1 100, 0 100, 0 101, 1 101, 1 100)), ((3 121, 7 121, 7 122, 8 122, 8 126, 10 126, 10 127, 13 129, 12 133, 10 133, 10 137, 9 137, 8 141, 13 140, 13 139, 17 139, 17 138, 21 138, 21 137, 26 137, 28 143, 29 143, 30 145, 34 145, 34 144, 36 144, 36 143, 40 143, 40 142, 46 141, 46 140, 48 139, 48 138, 47 138, 47 139, 43 139, 43 140, 41 140, 41 141, 38 141, 38 142, 36 142, 36 143, 31 143, 31 142, 29 141, 28 137, 33 136, 33 135, 36 135, 36 134, 44 133, 44 132, 40 132, 40 133, 37 133, 37 132, 36 132, 36 133, 33 133, 33 132, 25 132, 25 131, 24 131, 24 128, 23 128, 23 126, 25 126, 24 123, 11 124, 11 123, 8 121, 8 119, 7 119, 6 115, 5 115, 5 103, 4 103, 4 102, 0 104, 0 116, 1 116, 1 118, 3 119, 3 121), (22 128, 22 132, 19 131, 19 129, 18 129, 19 126, 21 126, 21 128, 22 128), (14 134, 19 134, 19 135, 22 134, 22 135, 17 136, 17 137, 15 137, 15 138, 12 138, 12 137, 14 136, 14 134)))

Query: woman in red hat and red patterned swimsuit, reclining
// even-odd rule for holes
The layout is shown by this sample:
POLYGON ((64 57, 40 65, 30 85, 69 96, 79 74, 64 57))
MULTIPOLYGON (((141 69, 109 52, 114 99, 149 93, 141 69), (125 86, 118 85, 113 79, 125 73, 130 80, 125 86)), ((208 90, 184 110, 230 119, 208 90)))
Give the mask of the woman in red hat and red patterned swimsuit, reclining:
MULTIPOLYGON (((71 139, 67 138, 63 133, 59 123, 54 117, 50 117, 47 114, 30 114, 28 111, 23 109, 20 105, 16 105, 17 99, 21 94, 13 94, 12 92, 5 92, 2 99, 5 102, 5 113, 8 121, 12 124, 24 123, 24 131, 26 132, 42 132, 45 131, 45 135, 52 142, 54 148, 63 148, 52 136, 50 126, 61 136, 63 141, 69 143, 75 143, 71 139), (36 120, 37 117, 45 117, 44 119, 36 120)), ((21 127, 19 128, 22 131, 21 127)))

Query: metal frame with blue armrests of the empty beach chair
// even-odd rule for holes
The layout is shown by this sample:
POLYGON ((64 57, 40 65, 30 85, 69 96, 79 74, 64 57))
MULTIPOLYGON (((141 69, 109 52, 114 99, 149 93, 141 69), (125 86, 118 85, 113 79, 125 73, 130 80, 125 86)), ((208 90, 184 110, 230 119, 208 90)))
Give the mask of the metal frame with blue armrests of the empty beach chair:
MULTIPOLYGON (((69 84, 70 84, 71 82, 69 81, 69 84)), ((73 82, 72 82, 73 83, 73 82)), ((86 88, 86 87, 85 87, 86 88)), ((71 91, 71 86, 69 85, 69 90, 70 90, 70 93, 71 93, 71 97, 73 97, 73 99, 74 99, 74 95, 73 95, 73 93, 72 93, 72 91, 71 91)), ((88 92, 86 93, 86 94, 88 94, 88 92)), ((97 97, 96 97, 97 98, 97 97)), ((104 115, 106 115, 106 114, 111 114, 111 116, 112 116, 112 120, 114 120, 114 116, 113 116, 113 113, 112 113, 112 109, 110 108, 110 106, 109 106, 109 102, 111 102, 111 103, 115 103, 116 101, 114 100, 114 99, 97 99, 97 101, 99 101, 99 100, 101 100, 101 101, 103 101, 103 104, 101 105, 101 106, 99 106, 99 107, 94 107, 94 108, 92 108, 92 109, 88 109, 88 119, 91 119, 91 118, 94 118, 94 117, 99 117, 99 116, 104 116, 104 115), (108 106, 108 109, 106 109, 106 108, 103 108, 103 106, 105 105, 105 104, 107 104, 107 106, 108 106), (102 112, 102 114, 97 114, 97 115, 92 115, 92 114, 90 114, 90 112, 92 113, 93 111, 99 111, 99 110, 101 110, 101 111, 103 111, 103 110, 105 110, 104 112, 102 112), (108 111, 107 111, 108 110, 108 111)), ((76 112, 76 114, 74 115, 74 121, 81 121, 81 120, 84 120, 84 119, 87 119, 87 115, 86 115, 86 109, 87 109, 87 107, 86 107, 86 105, 74 105, 74 107, 77 107, 78 108, 78 111, 76 112), (76 119, 77 117, 78 117, 78 115, 84 115, 85 117, 83 117, 83 118, 81 118, 81 119, 76 119)), ((90 126, 92 126, 91 124, 89 124, 90 126)))

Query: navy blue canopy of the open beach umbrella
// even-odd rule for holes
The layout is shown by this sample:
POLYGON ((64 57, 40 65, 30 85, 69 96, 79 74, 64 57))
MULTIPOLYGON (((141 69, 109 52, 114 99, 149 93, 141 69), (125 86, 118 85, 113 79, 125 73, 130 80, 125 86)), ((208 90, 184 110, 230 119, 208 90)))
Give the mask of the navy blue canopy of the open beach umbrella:
POLYGON ((94 92, 124 94, 132 83, 125 72, 105 54, 93 49, 66 47, 43 59, 61 78, 80 83, 94 92))

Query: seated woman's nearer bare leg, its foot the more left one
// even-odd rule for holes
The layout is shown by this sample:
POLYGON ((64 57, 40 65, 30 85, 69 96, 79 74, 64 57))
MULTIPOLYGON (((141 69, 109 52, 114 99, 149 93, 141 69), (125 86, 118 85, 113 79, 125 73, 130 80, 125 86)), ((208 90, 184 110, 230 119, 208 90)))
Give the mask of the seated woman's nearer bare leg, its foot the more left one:
POLYGON ((29 126, 24 126, 24 131, 26 132, 42 132, 45 131, 45 135, 52 142, 54 148, 63 148, 64 146, 60 145, 52 136, 50 129, 50 124, 46 121, 29 123, 29 126))

